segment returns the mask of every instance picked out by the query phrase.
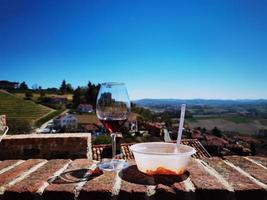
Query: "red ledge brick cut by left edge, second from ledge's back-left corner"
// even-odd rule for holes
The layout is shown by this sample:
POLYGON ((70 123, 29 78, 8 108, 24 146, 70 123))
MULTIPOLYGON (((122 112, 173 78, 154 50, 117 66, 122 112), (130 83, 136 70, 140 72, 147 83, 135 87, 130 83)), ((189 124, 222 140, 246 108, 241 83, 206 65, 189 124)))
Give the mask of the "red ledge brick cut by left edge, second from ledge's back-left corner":
POLYGON ((0 174, 0 186, 4 186, 8 184, 10 181, 14 180, 15 178, 18 178, 22 173, 28 171, 33 166, 43 162, 45 160, 42 159, 30 159, 22 164, 10 169, 9 171, 4 172, 3 174, 0 174))

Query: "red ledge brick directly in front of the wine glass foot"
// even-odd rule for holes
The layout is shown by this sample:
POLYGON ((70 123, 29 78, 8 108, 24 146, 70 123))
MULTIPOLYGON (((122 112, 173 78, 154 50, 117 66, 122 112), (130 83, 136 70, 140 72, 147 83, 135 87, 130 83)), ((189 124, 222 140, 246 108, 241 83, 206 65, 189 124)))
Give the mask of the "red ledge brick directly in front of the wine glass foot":
POLYGON ((102 175, 88 181, 80 191, 79 200, 112 198, 112 189, 116 173, 104 172, 102 175))

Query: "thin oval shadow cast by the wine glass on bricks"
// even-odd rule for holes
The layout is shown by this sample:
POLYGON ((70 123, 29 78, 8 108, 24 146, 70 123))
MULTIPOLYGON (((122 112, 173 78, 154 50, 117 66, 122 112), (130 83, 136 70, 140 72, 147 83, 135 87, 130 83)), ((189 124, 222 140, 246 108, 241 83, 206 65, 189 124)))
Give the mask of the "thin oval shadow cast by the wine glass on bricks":
POLYGON ((60 174, 55 180, 48 180, 49 183, 53 184, 65 184, 65 183, 78 183, 82 181, 89 181, 103 174, 100 170, 90 169, 76 169, 69 170, 60 174))

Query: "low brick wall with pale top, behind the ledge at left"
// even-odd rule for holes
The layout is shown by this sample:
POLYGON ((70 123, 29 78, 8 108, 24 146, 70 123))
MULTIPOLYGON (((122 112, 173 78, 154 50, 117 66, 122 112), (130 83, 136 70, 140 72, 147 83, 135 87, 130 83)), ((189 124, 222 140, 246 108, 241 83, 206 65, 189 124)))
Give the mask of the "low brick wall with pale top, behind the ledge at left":
POLYGON ((0 143, 0 160, 92 158, 90 133, 8 135, 0 143))

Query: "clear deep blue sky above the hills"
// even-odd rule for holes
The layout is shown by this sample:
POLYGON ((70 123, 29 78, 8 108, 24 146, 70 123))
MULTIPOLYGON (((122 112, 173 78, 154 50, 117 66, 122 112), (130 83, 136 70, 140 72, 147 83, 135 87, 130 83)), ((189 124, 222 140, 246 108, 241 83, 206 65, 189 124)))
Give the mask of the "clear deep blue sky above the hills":
POLYGON ((267 98, 267 1, 0 0, 0 79, 131 99, 267 98))

